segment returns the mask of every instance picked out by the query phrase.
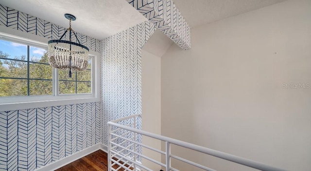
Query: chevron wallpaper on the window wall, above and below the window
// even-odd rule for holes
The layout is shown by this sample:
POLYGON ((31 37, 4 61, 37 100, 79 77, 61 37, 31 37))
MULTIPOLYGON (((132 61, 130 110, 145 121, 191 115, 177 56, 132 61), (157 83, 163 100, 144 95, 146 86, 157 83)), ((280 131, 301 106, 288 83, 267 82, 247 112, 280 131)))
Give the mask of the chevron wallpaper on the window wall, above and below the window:
MULTIPOLYGON (((0 25, 49 39, 66 30, 2 5, 0 25)), ((90 50, 101 52, 101 40, 79 33, 77 37, 90 50)), ((102 143, 102 110, 102 103, 95 102, 0 111, 0 171, 33 171, 102 143)))

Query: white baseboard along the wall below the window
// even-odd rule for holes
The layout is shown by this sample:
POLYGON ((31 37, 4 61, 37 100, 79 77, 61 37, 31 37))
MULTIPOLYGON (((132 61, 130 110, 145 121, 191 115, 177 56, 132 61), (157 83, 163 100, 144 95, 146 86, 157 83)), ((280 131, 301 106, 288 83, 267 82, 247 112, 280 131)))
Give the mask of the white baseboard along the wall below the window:
POLYGON ((80 152, 71 154, 65 158, 62 158, 60 160, 57 160, 55 162, 52 162, 46 166, 43 166, 41 168, 35 169, 34 171, 55 171, 56 169, 59 169, 65 165, 68 165, 69 163, 78 160, 92 152, 98 151, 98 150, 102 150, 104 152, 107 152, 107 146, 105 146, 104 144, 96 144, 92 147, 89 147, 85 150, 82 150, 80 152))

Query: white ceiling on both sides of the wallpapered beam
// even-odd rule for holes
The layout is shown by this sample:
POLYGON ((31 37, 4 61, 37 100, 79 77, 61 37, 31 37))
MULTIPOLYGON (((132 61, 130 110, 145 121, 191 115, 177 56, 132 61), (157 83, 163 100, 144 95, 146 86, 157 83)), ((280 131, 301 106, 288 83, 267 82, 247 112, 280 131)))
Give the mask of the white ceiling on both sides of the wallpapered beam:
MULTIPOLYGON (((191 28, 281 1, 285 0, 173 0, 191 28)), ((0 0, 0 4, 66 28, 69 21, 64 14, 70 13, 77 18, 73 30, 97 39, 147 20, 126 0, 0 0)))

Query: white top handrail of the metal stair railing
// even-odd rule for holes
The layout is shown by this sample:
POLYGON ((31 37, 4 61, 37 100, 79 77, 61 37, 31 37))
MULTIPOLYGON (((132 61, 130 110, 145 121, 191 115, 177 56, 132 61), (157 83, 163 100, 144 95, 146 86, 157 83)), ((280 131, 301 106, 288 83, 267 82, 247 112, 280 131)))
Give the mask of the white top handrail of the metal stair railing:
MULTIPOLYGON (((239 156, 235 156, 235 155, 228 154, 228 153, 225 153, 225 152, 220 152, 220 151, 208 149, 206 147, 202 147, 202 146, 198 146, 198 145, 191 144, 191 143, 188 143, 188 142, 176 140, 176 139, 173 139, 173 138, 170 138, 170 137, 166 137, 166 136, 163 136, 163 135, 158 135, 158 134, 155 134, 155 133, 149 133, 149 132, 146 132, 146 131, 138 130, 138 129, 135 129, 135 128, 123 126, 121 124, 116 123, 116 122, 119 122, 121 120, 129 119, 129 118, 136 117, 136 116, 140 116, 140 114, 134 114, 134 115, 127 116, 127 117, 124 117, 124 118, 121 118, 121 119, 110 121, 107 124, 108 124, 108 127, 109 126, 110 127, 111 126, 119 127, 119 128, 124 129, 124 130, 128 130, 128 131, 131 131, 131 132, 134 132, 134 133, 139 133, 139 134, 142 134, 142 135, 145 135, 145 136, 149 136, 149 137, 152 137, 152 138, 155 138, 155 139, 159 139, 161 141, 165 141, 167 144, 175 144, 177 146, 188 148, 188 149, 191 149, 191 150, 194 150, 194 151, 197 151, 197 152, 206 153, 206 154, 218 157, 218 158, 222 158, 222 159, 225 159, 225 160, 228 160, 228 161, 231 161, 231 162, 235 162, 235 163, 238 163, 238 164, 241 164, 241 165, 244 165, 244 166, 248 166, 248 167, 251 167, 251 168, 254 168, 254 169, 258 169, 258 170, 261 170, 261 171, 286 171, 286 170, 279 169, 279 168, 276 168, 276 167, 273 167, 273 166, 269 166, 269 165, 266 165, 266 164, 263 164, 263 163, 260 163, 260 162, 257 162, 257 161, 246 159, 246 158, 243 158, 243 157, 239 157, 239 156)), ((109 132, 109 130, 108 130, 108 132, 109 132)), ((175 157, 175 156, 169 154, 169 157, 175 157)))

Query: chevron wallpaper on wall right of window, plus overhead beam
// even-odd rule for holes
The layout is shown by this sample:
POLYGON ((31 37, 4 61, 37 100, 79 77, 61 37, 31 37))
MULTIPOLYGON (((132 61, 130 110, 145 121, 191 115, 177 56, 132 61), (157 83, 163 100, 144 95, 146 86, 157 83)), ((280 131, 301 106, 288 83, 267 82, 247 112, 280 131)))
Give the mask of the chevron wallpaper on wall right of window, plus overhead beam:
MULTIPOLYGON (((104 124, 141 114, 141 48, 155 29, 159 28, 183 49, 190 48, 190 27, 172 0, 127 1, 149 21, 102 41, 102 98, 107 118, 104 124)), ((103 142, 107 144, 106 137, 103 142)))

